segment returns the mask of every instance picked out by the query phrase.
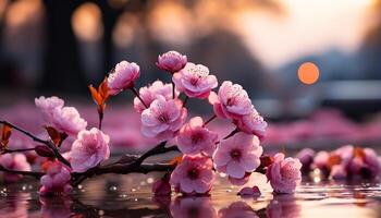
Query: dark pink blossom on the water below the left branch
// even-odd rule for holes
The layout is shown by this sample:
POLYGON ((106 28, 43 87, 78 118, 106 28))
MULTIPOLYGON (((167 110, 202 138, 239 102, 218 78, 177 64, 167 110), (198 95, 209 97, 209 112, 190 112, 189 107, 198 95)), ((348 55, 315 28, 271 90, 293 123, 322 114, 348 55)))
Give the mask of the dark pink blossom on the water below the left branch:
POLYGON ((72 191, 70 185, 71 174, 66 166, 60 161, 50 162, 47 173, 41 177, 41 187, 39 190, 41 195, 51 193, 69 193, 72 191))

